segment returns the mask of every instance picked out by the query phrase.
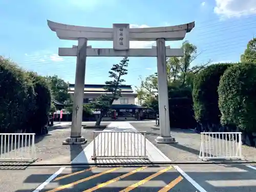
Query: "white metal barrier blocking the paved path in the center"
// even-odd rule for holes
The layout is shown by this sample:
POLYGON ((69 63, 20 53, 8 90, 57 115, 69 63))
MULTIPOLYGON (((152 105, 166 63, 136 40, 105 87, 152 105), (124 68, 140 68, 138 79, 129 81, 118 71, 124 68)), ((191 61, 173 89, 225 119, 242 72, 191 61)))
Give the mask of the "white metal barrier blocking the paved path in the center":
POLYGON ((95 131, 92 159, 147 159, 145 134, 146 131, 95 131))

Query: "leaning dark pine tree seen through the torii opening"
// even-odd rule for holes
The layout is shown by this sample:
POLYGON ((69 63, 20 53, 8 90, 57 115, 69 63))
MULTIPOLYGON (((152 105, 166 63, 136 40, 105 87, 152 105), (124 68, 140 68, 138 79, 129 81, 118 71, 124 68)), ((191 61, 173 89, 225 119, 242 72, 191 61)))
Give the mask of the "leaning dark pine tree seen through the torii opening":
POLYGON ((109 111, 110 106, 114 100, 120 98, 121 90, 119 86, 125 81, 122 76, 127 74, 127 67, 129 59, 124 57, 118 64, 114 64, 109 71, 109 77, 112 78, 110 81, 105 81, 106 94, 101 95, 93 102, 94 108, 100 111, 99 118, 96 121, 95 126, 99 126, 103 115, 109 111))

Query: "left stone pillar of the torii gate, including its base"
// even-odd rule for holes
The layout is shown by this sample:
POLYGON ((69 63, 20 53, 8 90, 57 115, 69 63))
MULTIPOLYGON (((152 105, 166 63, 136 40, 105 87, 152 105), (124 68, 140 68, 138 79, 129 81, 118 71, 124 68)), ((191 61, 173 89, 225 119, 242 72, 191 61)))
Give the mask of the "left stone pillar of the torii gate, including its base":
POLYGON ((87 39, 78 38, 75 92, 72 112, 72 124, 70 137, 63 141, 63 144, 84 144, 87 139, 81 136, 84 80, 86 76, 87 39))

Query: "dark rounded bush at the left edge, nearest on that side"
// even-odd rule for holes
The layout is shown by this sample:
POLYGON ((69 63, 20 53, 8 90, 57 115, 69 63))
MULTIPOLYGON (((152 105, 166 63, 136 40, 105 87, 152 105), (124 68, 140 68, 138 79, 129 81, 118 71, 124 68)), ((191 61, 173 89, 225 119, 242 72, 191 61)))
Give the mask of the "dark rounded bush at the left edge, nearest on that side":
POLYGON ((0 132, 26 129, 34 105, 31 79, 15 63, 0 56, 0 132))

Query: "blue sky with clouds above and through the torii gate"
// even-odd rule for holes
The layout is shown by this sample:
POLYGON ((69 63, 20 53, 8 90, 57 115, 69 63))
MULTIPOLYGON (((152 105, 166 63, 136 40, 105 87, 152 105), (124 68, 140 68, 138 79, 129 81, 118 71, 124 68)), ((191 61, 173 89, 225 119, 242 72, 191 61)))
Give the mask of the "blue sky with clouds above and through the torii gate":
MULTIPOLYGON (((239 61, 248 40, 256 36, 254 0, 0 0, 0 55, 10 57, 27 70, 40 75, 58 75, 74 83, 76 59, 59 57, 58 47, 72 47, 76 41, 60 40, 52 32, 53 22, 88 27, 112 27, 129 23, 133 27, 161 27, 196 22, 186 35, 202 54, 193 65, 211 59, 239 61), (243 3, 242 3, 243 2, 243 3)), ((151 47, 154 42, 132 42, 132 47, 151 47)), ((166 42, 179 48, 182 41, 166 42)), ((109 41, 89 41, 93 48, 112 48, 109 41)), ((86 83, 100 84, 121 58, 87 59, 86 83)), ((156 72, 156 58, 130 58, 125 84, 139 84, 138 77, 156 72)))

